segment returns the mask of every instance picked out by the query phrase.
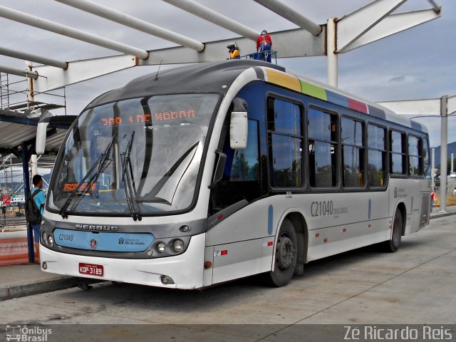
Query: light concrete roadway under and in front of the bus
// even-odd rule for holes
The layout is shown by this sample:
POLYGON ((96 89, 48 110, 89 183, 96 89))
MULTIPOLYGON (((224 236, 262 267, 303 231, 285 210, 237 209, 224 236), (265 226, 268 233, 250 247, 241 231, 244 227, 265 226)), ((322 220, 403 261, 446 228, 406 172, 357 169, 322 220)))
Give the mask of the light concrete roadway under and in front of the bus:
MULTIPOLYGON (((204 291, 105 282, 91 291, 71 288, 1 301, 0 323, 51 325, 54 336, 60 331, 66 341, 97 336, 95 341, 110 342, 150 336, 154 341, 343 341, 343 325, 455 324, 455 222, 456 216, 432 219, 404 237, 395 254, 366 247, 311 262, 304 276, 279 289, 256 277, 204 291), (314 323, 342 326, 302 326, 314 323), (315 337, 318 331, 326 339, 315 337)), ((15 275, 24 281, 34 277, 31 269, 38 265, 11 267, 24 270, 15 275)), ((0 267, 1 281, 9 276, 6 271, 8 266, 0 267)), ((455 341, 452 327, 450 341, 455 341)))

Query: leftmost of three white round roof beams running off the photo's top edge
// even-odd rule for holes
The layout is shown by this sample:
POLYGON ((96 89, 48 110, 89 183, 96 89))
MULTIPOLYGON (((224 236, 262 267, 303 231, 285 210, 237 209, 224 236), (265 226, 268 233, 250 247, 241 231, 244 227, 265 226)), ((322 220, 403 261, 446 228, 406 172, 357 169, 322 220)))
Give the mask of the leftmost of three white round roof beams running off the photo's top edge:
MULTIPOLYGON (((131 28, 135 28, 138 31, 142 31, 152 36, 157 36, 163 38, 167 41, 172 41, 173 43, 177 43, 182 46, 186 46, 187 48, 192 48, 196 51, 203 51, 204 44, 200 41, 196 41, 195 39, 188 38, 186 36, 182 36, 182 34, 175 33, 169 31, 165 28, 160 26, 156 26, 154 24, 147 23, 147 21, 140 20, 135 18, 134 16, 130 16, 128 14, 122 13, 120 11, 115 11, 114 9, 110 9, 105 6, 101 6, 100 4, 95 4, 92 1, 88 0, 56 0, 61 2, 62 4, 66 4, 71 7, 75 7, 76 9, 81 9, 81 11, 86 11, 91 14, 95 14, 95 16, 101 16, 105 19, 110 21, 115 21, 118 24, 122 24, 125 26, 129 26, 131 28)), ((144 58, 144 57, 142 57, 144 58)))

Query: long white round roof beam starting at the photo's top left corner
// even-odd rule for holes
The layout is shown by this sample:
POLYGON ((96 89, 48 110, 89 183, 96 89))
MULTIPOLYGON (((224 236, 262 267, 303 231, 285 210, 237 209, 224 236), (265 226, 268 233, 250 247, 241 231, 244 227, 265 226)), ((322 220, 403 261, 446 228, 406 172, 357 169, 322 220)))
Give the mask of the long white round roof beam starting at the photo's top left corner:
POLYGON ((25 14, 21 11, 9 9, 5 6, 0 6, 0 16, 13 21, 19 21, 19 23, 22 24, 41 28, 46 31, 51 31, 63 36, 75 38, 80 41, 86 41, 87 43, 103 46, 104 48, 110 48, 111 50, 120 51, 139 58, 147 58, 149 56, 149 53, 147 51, 140 48, 135 48, 134 46, 129 46, 124 43, 119 43, 118 41, 112 41, 107 38, 96 36, 92 33, 77 30, 76 28, 71 28, 69 26, 38 18, 36 16, 31 16, 30 14, 25 14))

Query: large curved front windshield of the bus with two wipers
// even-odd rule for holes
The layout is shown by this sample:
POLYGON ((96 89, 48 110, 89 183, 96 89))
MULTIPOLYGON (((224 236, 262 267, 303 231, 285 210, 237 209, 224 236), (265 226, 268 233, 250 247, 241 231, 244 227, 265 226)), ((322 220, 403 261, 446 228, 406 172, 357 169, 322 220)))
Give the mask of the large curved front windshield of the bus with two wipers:
POLYGON ((187 209, 218 99, 155 95, 86 110, 61 147, 48 209, 121 216, 187 209))

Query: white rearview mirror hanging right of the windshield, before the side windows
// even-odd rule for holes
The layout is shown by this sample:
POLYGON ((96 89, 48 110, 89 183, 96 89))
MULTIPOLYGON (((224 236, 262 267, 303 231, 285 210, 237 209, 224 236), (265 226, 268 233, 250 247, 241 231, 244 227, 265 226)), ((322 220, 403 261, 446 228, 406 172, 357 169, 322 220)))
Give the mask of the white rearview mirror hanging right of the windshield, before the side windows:
POLYGON ((234 98, 231 120, 229 121, 229 147, 243 150, 247 147, 247 103, 242 98, 234 98))

